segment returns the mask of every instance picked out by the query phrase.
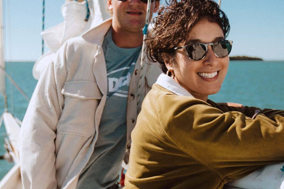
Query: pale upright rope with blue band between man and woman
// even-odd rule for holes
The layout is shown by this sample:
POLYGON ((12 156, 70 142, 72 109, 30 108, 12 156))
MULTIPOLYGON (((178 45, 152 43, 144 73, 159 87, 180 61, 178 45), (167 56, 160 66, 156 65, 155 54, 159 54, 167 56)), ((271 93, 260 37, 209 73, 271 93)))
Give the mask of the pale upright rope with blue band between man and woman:
POLYGON ((148 31, 148 25, 149 25, 149 20, 150 20, 150 10, 151 10, 151 0, 148 0, 147 4, 147 14, 146 14, 146 20, 145 20, 145 26, 143 28, 143 45, 142 45, 142 54, 141 54, 141 63, 140 63, 140 73, 139 73, 139 82, 138 82, 138 102, 137 106, 139 106, 140 99, 141 99, 141 83, 142 83, 142 78, 144 78, 144 72, 143 71, 143 66, 144 66, 144 59, 146 58, 146 43, 145 39, 147 38, 147 31, 148 31))

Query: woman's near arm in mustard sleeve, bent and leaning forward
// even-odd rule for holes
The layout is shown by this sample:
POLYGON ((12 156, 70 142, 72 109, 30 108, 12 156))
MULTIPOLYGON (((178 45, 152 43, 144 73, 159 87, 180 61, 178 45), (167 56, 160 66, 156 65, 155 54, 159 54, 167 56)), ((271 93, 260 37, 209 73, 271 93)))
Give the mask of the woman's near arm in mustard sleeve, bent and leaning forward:
MULTIPOLYGON (((170 109, 164 107, 166 119, 159 116, 165 133, 221 178, 233 180, 263 165, 283 162, 284 110, 262 110, 252 119, 201 100, 171 98, 176 99, 170 109)), ((170 98, 165 102, 171 102, 170 98)))

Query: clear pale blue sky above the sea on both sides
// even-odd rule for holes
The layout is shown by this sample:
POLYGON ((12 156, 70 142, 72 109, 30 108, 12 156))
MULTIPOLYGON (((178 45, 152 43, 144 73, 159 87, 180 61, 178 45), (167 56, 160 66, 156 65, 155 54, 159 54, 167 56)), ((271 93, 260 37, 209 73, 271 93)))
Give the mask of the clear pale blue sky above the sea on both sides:
MULTIPOLYGON (((46 0, 46 29, 63 21, 64 1, 46 0)), ((3 3, 6 61, 35 61, 41 56, 42 1, 3 3)), ((284 0, 222 0, 221 8, 230 21, 231 56, 284 60, 284 0)))

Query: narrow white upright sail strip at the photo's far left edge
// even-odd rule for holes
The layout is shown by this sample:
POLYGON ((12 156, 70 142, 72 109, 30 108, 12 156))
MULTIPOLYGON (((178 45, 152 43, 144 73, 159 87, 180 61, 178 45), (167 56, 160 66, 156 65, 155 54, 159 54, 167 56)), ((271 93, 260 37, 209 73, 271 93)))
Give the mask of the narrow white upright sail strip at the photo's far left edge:
POLYGON ((6 93, 6 74, 4 62, 4 38, 3 38, 3 4, 0 0, 0 94, 6 93))

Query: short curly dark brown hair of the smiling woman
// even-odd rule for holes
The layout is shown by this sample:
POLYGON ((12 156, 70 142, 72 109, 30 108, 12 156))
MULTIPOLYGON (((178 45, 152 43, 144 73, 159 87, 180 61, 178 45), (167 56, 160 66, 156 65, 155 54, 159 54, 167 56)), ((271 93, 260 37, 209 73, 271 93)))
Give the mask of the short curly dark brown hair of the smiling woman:
POLYGON ((146 39, 148 58, 159 62, 164 73, 167 72, 164 61, 175 62, 173 48, 187 40, 189 32, 201 18, 219 24, 225 38, 229 34, 229 20, 212 0, 169 0, 166 4, 159 8, 158 16, 154 18, 154 30, 146 39))

